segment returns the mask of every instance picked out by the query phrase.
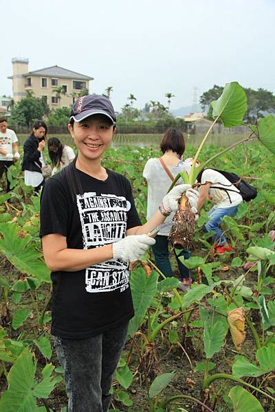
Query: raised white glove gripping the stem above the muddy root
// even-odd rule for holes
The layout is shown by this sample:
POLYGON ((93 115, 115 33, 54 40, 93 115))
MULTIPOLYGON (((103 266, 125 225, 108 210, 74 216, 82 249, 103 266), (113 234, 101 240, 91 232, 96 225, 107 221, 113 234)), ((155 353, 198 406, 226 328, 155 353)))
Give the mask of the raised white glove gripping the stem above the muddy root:
POLYGON ((177 185, 173 187, 173 189, 162 199, 162 209, 164 209, 164 212, 170 214, 172 211, 176 211, 179 206, 179 198, 181 198, 181 195, 184 192, 186 192, 186 197, 190 203, 192 213, 197 214, 199 193, 197 190, 192 189, 191 185, 177 185))

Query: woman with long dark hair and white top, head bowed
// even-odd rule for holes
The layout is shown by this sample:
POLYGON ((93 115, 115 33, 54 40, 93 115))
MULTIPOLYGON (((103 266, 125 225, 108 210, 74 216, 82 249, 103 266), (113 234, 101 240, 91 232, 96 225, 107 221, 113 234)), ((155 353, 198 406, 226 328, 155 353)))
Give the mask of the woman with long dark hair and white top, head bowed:
POLYGON ((52 176, 69 165, 76 157, 74 150, 66 144, 61 144, 61 141, 57 139, 57 137, 51 137, 47 141, 47 150, 54 165, 52 176))

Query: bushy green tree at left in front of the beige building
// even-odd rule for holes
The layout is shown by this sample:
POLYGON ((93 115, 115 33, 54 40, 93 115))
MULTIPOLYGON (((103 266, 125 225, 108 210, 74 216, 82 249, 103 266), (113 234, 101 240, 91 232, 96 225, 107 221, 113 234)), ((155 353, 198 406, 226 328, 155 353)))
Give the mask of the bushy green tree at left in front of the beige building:
POLYGON ((9 122, 30 127, 35 120, 43 119, 49 113, 50 107, 47 103, 28 91, 27 97, 19 100, 12 108, 9 122))

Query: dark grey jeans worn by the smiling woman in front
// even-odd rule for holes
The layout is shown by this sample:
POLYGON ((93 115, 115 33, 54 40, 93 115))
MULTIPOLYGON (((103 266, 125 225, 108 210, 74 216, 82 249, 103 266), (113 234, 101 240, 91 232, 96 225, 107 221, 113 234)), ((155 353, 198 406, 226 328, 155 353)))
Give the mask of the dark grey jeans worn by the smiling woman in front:
POLYGON ((56 336, 54 346, 64 369, 68 412, 107 412, 111 382, 126 341, 123 323, 88 339, 56 336))

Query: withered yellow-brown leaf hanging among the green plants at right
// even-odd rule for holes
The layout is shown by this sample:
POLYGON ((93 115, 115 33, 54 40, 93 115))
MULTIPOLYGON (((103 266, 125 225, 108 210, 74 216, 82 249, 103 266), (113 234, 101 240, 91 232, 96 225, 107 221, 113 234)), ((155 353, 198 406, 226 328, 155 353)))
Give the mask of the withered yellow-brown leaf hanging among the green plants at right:
POLYGON ((245 340, 245 310, 243 308, 232 309, 228 312, 228 323, 232 341, 236 350, 241 351, 241 345, 245 340))

